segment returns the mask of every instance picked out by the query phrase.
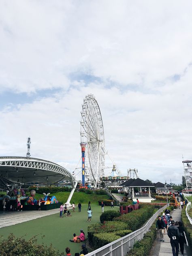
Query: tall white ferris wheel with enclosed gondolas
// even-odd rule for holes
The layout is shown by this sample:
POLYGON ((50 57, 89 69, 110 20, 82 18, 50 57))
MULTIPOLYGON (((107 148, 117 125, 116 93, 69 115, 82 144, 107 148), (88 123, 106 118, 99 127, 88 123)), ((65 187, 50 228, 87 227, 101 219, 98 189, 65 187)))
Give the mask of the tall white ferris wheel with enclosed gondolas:
POLYGON ((85 149, 85 177, 97 187, 99 178, 104 176, 105 139, 99 105, 93 94, 83 99, 81 111, 81 142, 85 149))

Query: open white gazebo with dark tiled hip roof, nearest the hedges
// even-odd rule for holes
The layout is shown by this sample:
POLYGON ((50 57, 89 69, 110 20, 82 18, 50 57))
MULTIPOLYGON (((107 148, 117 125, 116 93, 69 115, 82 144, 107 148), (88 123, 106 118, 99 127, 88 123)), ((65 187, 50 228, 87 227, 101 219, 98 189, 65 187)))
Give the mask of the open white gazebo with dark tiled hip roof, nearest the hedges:
POLYGON ((137 201, 137 198, 140 202, 146 202, 151 203, 151 192, 150 188, 154 188, 154 185, 152 183, 149 183, 147 181, 144 181, 143 179, 130 179, 124 183, 122 183, 120 186, 124 188, 124 191, 129 192, 129 196, 132 198, 133 201, 137 201), (134 188, 139 188, 139 192, 135 193, 134 188), (148 188, 148 193, 146 192, 146 189, 148 188), (144 192, 142 192, 142 189, 144 192))

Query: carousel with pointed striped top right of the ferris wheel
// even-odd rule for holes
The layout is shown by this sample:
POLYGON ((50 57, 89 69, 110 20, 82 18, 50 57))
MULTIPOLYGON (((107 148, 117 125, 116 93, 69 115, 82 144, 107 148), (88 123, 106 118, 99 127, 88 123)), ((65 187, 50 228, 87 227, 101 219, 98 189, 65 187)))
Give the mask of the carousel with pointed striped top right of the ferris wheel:
POLYGON ((119 176, 119 174, 117 174, 115 165, 113 165, 113 169, 109 176, 100 177, 100 181, 104 181, 107 188, 122 188, 119 185, 128 179, 127 176, 119 176))

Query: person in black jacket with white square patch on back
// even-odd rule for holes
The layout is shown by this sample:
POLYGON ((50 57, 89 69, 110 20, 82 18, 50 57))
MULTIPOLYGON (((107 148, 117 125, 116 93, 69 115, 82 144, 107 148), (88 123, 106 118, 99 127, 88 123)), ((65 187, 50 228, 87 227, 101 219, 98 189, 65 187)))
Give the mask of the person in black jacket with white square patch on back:
POLYGON ((179 229, 175 227, 175 221, 172 220, 171 226, 168 228, 167 235, 170 238, 173 256, 179 254, 179 229))

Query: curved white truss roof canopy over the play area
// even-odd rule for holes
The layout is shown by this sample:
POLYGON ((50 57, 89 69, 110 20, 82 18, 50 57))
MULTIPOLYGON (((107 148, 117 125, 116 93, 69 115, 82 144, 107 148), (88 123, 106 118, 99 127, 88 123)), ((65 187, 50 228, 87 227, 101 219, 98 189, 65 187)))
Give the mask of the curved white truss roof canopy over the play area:
POLYGON ((54 184, 63 180, 71 181, 74 188, 75 178, 58 164, 38 158, 0 157, 0 186, 6 186, 7 183, 54 184))

